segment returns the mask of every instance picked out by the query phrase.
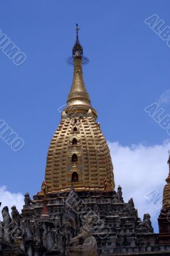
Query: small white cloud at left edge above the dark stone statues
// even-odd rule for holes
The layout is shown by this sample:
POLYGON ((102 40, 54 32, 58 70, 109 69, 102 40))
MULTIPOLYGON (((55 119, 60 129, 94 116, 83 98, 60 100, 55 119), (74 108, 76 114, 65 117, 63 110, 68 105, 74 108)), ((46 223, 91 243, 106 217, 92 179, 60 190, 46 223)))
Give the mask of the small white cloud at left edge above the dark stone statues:
POLYGON ((8 206, 9 212, 11 213, 11 207, 16 205, 18 211, 21 212, 24 205, 24 195, 22 195, 22 193, 11 193, 7 190, 6 186, 1 186, 0 202, 2 203, 1 209, 3 209, 4 206, 8 206))

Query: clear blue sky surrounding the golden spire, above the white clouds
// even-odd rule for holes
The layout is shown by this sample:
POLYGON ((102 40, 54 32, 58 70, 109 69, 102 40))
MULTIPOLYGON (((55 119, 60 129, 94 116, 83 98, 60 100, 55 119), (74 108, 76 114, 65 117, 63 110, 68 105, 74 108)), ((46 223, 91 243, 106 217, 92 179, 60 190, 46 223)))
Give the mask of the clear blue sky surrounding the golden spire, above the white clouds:
MULTIPOLYGON (((48 146, 60 122, 57 109, 71 86, 73 67, 66 59, 76 23, 90 59, 83 68, 85 84, 106 139, 122 147, 154 147, 169 140, 144 111, 170 89, 170 48, 144 20, 157 13, 170 26, 169 8, 169 1, 153 0, 1 2, 0 29, 27 60, 16 66, 0 50, 0 119, 25 141, 13 152, 0 140, 0 186, 31 195, 41 187, 48 146)), ((168 102, 164 109, 170 114, 168 102)), ((167 169, 162 173, 164 184, 167 169)))

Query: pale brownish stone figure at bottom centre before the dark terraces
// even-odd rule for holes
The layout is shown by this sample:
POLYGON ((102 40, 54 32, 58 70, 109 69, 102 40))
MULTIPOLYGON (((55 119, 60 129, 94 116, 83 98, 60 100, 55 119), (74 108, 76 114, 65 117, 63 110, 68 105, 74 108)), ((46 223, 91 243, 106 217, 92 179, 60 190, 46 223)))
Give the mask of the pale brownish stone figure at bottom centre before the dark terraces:
POLYGON ((67 253, 69 256, 97 256, 96 239, 92 236, 92 231, 89 225, 85 224, 80 229, 80 234, 69 241, 67 253))

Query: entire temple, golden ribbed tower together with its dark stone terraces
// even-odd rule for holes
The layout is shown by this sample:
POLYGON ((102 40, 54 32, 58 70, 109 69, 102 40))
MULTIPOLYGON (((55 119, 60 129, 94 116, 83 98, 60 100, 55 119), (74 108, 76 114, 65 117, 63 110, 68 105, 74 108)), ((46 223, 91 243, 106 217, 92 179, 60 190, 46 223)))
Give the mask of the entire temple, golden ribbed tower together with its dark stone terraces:
POLYGON ((20 214, 2 209, 0 255, 170 255, 170 157, 159 234, 141 220, 132 198, 115 190, 110 150, 83 81, 88 61, 78 38, 69 62, 73 83, 46 159, 45 180, 20 214))

